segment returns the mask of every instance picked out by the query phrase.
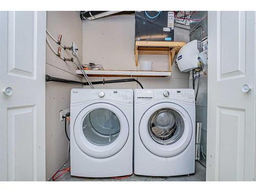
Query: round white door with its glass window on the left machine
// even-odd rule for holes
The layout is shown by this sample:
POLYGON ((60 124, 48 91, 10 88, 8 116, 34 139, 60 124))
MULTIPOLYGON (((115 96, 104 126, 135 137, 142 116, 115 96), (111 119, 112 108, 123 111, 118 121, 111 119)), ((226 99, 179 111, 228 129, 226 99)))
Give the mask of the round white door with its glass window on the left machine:
POLYGON ((73 129, 80 150, 95 158, 116 154, 129 136, 125 115, 109 103, 95 103, 84 108, 78 114, 73 129))

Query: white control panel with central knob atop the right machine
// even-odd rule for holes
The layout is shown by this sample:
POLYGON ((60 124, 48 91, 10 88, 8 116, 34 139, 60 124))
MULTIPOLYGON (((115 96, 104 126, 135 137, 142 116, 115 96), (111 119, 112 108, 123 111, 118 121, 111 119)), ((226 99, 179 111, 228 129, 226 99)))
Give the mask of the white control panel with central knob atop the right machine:
POLYGON ((195 103, 195 92, 193 89, 144 89, 135 90, 135 102, 146 102, 158 99, 176 99, 195 103))

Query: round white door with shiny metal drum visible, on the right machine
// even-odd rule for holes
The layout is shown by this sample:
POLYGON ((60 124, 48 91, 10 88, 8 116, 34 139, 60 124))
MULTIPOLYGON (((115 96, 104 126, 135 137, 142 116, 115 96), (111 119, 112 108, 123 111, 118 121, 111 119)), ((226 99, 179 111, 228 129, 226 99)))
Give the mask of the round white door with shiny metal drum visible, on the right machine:
POLYGON ((139 124, 144 146, 161 157, 172 157, 185 150, 193 135, 188 113, 174 103, 158 103, 148 109, 139 124))

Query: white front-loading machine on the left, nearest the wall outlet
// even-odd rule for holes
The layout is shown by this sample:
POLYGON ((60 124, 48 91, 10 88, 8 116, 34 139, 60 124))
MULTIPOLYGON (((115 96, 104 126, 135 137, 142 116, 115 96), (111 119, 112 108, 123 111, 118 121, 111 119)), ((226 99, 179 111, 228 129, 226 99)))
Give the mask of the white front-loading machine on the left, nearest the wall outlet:
POLYGON ((71 90, 71 175, 133 173, 133 90, 71 90))

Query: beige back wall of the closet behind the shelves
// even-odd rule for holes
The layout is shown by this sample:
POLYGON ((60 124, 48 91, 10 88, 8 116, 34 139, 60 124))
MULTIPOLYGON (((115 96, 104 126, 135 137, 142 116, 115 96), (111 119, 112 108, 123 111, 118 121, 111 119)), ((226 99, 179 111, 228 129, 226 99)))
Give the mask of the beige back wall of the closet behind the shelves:
MULTIPOLYGON (((104 69, 136 70, 135 15, 120 15, 82 22, 83 63, 101 64, 104 69)), ((189 30, 175 28, 176 41, 189 41, 189 30)), ((176 57, 175 57, 176 58, 176 57)), ((168 70, 167 55, 140 55, 142 60, 152 60, 153 70, 168 70)), ((102 78, 90 78, 92 81, 102 78)), ((120 78, 105 78, 120 79, 120 78)), ((138 78, 144 88, 188 88, 188 73, 181 73, 173 63, 173 76, 170 78, 138 78)), ((89 88, 84 86, 84 88, 89 88)), ((136 82, 97 85, 95 88, 139 88, 136 82)))

